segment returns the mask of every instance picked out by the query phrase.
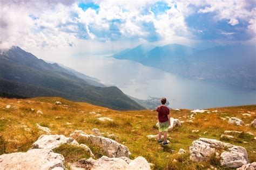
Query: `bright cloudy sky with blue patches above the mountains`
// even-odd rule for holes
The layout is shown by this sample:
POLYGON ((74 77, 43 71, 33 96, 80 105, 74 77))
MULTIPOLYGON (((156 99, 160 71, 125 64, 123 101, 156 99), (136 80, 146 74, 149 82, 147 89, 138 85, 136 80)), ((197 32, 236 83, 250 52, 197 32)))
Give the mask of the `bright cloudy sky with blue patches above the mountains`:
POLYGON ((255 45, 256 1, 1 0, 0 48, 49 55, 114 53, 143 42, 255 45))

